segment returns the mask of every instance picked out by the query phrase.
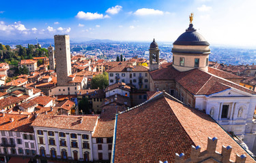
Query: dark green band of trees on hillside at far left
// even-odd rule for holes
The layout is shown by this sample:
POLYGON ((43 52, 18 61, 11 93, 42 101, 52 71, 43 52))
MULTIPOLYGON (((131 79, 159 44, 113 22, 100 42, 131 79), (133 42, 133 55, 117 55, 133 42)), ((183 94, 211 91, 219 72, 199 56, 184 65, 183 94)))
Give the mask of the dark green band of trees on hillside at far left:
POLYGON ((10 65, 18 66, 18 62, 20 60, 25 59, 33 59, 33 57, 39 56, 47 56, 48 57, 48 50, 45 48, 35 48, 34 45, 27 45, 26 47, 23 46, 16 46, 16 50, 12 50, 8 45, 2 45, 0 43, 0 62, 7 62, 10 65))

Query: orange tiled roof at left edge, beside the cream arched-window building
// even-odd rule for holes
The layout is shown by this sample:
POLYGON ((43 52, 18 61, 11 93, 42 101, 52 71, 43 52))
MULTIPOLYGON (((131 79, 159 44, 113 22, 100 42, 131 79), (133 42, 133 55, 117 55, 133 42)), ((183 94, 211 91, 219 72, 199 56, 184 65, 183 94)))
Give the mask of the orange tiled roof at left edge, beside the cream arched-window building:
POLYGON ((5 113, 0 117, 0 130, 12 130, 17 132, 33 132, 33 127, 30 126, 35 120, 35 116, 5 113), (10 122, 10 118, 13 118, 13 122, 10 122))

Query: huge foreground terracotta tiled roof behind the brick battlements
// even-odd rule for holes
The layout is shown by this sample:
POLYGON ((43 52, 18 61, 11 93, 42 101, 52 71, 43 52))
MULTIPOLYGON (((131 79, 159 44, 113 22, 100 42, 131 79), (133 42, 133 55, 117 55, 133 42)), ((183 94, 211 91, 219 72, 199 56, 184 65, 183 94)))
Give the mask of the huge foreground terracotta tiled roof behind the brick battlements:
POLYGON ((255 162, 209 115, 165 96, 117 115, 115 162, 174 162, 175 153, 190 157, 191 145, 204 151, 208 137, 218 137, 216 151, 231 145, 236 153, 255 162), (146 125, 145 125, 146 124, 146 125))

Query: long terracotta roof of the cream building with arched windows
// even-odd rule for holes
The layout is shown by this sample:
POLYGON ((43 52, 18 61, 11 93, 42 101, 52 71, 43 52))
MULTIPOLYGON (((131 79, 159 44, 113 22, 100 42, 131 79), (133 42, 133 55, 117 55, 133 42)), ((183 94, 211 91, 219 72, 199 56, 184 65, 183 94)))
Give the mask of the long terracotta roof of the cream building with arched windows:
POLYGON ((60 128, 68 130, 94 131, 97 115, 44 115, 40 114, 33 122, 32 126, 60 128), (82 120, 82 121, 81 121, 82 120))

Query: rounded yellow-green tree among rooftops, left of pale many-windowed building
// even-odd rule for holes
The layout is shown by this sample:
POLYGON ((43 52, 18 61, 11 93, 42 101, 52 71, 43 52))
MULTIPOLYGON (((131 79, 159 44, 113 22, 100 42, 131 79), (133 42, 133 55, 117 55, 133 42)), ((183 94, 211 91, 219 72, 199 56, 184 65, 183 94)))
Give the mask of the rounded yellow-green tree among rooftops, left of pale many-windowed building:
POLYGON ((96 75, 96 77, 91 79, 91 88, 93 89, 103 89, 106 88, 106 86, 109 86, 109 75, 106 72, 96 75))

